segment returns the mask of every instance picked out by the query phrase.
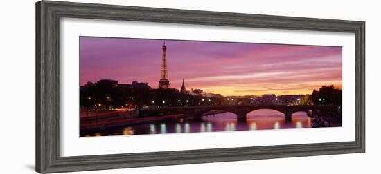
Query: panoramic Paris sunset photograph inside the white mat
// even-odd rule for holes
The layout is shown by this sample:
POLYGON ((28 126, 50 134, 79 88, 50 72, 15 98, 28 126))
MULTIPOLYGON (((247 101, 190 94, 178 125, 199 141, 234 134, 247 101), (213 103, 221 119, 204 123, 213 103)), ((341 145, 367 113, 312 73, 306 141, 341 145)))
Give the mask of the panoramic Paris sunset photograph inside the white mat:
POLYGON ((79 39, 80 137, 342 126, 341 46, 79 39))

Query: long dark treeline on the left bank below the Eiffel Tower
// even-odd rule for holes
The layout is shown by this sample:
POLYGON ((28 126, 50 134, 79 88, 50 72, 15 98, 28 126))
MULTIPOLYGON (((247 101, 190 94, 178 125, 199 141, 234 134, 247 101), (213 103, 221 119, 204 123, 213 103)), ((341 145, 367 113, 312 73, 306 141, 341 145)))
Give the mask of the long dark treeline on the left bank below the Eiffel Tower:
POLYGON ((202 97, 180 93, 174 88, 118 88, 111 81, 88 82, 81 86, 81 106, 87 108, 141 108, 145 106, 193 106, 224 104, 220 97, 202 97))

